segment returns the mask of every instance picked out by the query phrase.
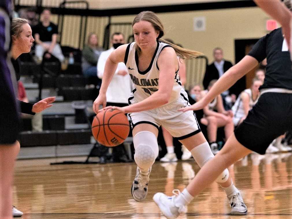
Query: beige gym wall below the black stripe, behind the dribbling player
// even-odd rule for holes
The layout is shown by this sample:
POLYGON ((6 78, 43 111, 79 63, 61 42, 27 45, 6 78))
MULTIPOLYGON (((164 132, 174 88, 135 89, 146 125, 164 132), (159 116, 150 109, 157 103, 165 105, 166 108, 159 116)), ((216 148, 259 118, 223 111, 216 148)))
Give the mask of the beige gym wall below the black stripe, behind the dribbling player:
MULTIPOLYGON (((267 34, 265 22, 268 16, 259 8, 235 8, 207 11, 158 13, 164 23, 164 38, 173 39, 185 48, 204 53, 209 62, 212 50, 219 46, 226 59, 235 61, 235 39, 254 39, 267 34), (193 30, 194 17, 206 17, 206 31, 193 30)), ((112 22, 131 22, 134 16, 113 16, 112 22)))

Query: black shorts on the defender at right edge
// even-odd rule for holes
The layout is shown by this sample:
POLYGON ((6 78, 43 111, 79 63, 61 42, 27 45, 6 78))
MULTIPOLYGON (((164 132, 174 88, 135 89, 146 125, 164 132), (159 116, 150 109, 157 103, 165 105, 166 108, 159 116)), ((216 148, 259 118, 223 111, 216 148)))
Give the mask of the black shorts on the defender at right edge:
POLYGON ((270 143, 292 127, 292 94, 264 93, 234 130, 246 148, 265 154, 270 143))

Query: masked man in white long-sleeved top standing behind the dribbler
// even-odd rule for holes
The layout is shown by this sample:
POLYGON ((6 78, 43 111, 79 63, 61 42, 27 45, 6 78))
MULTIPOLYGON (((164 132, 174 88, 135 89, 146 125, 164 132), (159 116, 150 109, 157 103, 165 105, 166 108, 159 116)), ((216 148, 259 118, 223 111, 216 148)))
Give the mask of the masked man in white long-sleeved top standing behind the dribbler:
MULTIPOLYGON (((112 47, 100 54, 97 63, 97 76, 102 79, 105 62, 109 55, 117 49, 119 46, 125 43, 124 34, 120 32, 115 32, 111 36, 112 47)), ((117 70, 114 73, 112 81, 106 92, 107 106, 128 106, 128 98, 132 92, 132 82, 131 77, 128 73, 126 65, 122 62, 118 64, 117 70)), ((113 148, 112 151, 114 162, 128 162, 129 158, 126 156, 126 151, 124 145, 121 144, 113 148)))

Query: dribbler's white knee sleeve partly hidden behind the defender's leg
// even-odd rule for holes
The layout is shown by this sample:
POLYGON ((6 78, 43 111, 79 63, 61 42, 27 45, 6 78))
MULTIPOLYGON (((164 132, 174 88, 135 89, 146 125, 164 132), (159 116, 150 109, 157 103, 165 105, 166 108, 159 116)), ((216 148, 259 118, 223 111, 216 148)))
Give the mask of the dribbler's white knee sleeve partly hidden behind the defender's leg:
MULTIPOLYGON (((214 157, 208 142, 198 145, 197 147, 191 150, 192 156, 199 165, 200 168, 205 165, 209 160, 214 157)), ((229 171, 225 169, 215 180, 215 182, 226 182, 229 178, 229 171)))

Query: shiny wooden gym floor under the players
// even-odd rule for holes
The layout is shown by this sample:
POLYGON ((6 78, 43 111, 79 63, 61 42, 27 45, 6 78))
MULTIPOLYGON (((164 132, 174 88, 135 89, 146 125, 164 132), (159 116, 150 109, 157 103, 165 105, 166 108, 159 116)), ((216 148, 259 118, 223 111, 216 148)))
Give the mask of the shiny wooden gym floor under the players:
MULTIPOLYGON (((154 163, 145 201, 131 196, 135 163, 50 165, 85 157, 19 160, 15 167, 13 204, 22 218, 164 218, 152 201, 156 192, 182 190, 199 171, 194 161, 154 163)), ((230 174, 248 207, 244 216, 229 215, 223 190, 213 183, 180 218, 292 218, 291 153, 251 154, 230 174)))

